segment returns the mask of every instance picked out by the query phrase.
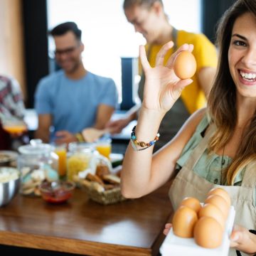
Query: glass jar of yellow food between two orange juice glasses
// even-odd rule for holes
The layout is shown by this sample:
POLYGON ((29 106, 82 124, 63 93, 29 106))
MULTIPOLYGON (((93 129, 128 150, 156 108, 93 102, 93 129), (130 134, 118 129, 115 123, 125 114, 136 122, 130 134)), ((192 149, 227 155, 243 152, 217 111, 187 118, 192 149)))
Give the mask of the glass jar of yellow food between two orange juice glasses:
POLYGON ((76 181, 80 171, 90 169, 95 146, 85 142, 71 142, 68 145, 68 181, 76 181))

